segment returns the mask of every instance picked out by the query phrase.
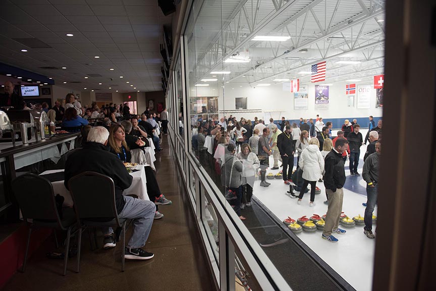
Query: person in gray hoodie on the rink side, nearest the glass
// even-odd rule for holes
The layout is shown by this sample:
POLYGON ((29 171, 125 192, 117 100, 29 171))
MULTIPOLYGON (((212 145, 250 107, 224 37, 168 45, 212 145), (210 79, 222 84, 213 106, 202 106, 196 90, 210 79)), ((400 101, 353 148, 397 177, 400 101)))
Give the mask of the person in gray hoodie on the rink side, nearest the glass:
POLYGON ((232 205, 236 214, 241 220, 245 217, 241 215, 241 199, 242 199, 242 162, 235 156, 236 147, 233 144, 227 145, 224 163, 221 168, 221 181, 226 191, 230 190, 236 194, 236 199, 228 200, 232 205))

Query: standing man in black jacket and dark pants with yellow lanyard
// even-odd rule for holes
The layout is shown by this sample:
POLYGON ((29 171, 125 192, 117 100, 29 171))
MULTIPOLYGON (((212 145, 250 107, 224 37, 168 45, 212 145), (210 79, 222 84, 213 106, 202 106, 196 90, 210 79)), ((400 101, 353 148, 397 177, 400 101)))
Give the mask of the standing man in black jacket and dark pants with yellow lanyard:
POLYGON ((292 127, 290 125, 287 125, 286 130, 277 137, 277 147, 279 148, 283 162, 283 180, 286 185, 289 185, 292 181, 292 169, 294 168, 295 153, 292 127))

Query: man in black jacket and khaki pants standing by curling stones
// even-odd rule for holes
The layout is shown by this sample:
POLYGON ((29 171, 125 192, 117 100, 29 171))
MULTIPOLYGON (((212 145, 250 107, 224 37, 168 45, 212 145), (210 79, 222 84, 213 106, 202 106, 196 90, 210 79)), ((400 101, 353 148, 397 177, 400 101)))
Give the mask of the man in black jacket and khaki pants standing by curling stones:
POLYGON ((325 225, 322 231, 322 238, 329 242, 336 243, 338 239, 332 235, 345 234, 344 229, 339 228, 339 218, 342 212, 342 201, 344 198, 345 167, 342 153, 348 148, 348 141, 345 138, 338 138, 335 147, 325 156, 324 164, 324 186, 329 198, 329 208, 325 216, 325 225))

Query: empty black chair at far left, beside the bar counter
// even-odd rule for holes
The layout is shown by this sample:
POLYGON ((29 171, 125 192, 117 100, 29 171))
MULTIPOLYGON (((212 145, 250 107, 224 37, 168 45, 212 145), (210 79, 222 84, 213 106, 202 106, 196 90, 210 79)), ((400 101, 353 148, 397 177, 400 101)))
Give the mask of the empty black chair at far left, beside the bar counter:
POLYGON ((32 173, 26 173, 14 179, 12 181, 12 191, 20 206, 24 221, 26 221, 29 227, 22 272, 26 268, 32 229, 53 228, 67 230, 63 273, 65 276, 67 273, 71 231, 77 221, 74 210, 72 208, 63 208, 63 212, 59 213, 55 193, 50 181, 32 173))

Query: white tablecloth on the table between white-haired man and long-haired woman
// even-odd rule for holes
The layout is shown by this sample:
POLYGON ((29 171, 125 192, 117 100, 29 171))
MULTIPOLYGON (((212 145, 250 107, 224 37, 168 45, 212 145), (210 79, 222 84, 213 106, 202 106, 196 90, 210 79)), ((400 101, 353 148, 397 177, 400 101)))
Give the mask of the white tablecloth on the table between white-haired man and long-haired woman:
MULTIPOLYGON (((126 190, 123 191, 123 195, 137 195, 139 199, 142 200, 150 200, 147 195, 147 179, 145 178, 145 170, 144 165, 139 165, 137 167, 139 171, 132 172, 130 175, 133 177, 132 185, 126 190)), ((63 172, 64 170, 48 170, 42 172, 41 175, 63 172)), ((53 185, 53 191, 56 194, 59 194, 65 198, 64 206, 72 207, 73 199, 71 198, 70 192, 65 188, 64 180, 51 182, 53 185)))

